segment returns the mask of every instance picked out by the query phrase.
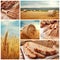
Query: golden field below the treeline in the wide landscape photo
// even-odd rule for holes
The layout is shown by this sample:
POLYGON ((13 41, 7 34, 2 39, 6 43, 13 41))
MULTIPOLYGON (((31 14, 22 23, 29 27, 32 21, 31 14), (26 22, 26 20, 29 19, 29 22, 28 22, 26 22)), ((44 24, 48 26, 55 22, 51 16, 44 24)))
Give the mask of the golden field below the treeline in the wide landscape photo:
POLYGON ((22 19, 58 19, 59 12, 56 11, 55 16, 48 16, 47 11, 21 11, 22 19))

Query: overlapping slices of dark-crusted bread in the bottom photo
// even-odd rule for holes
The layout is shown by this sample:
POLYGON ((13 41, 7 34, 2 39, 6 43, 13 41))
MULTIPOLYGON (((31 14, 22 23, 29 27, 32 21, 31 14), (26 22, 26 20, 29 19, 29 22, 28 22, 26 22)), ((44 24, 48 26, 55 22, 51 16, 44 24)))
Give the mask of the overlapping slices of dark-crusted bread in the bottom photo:
MULTIPOLYGON (((26 48, 28 51, 30 51, 30 53, 33 53, 34 55, 36 55, 36 57, 39 58, 45 58, 46 56, 52 56, 57 53, 54 48, 46 47, 33 42, 27 42, 26 44, 24 44, 24 48, 26 48)), ((29 54, 27 51, 25 53, 29 54)))

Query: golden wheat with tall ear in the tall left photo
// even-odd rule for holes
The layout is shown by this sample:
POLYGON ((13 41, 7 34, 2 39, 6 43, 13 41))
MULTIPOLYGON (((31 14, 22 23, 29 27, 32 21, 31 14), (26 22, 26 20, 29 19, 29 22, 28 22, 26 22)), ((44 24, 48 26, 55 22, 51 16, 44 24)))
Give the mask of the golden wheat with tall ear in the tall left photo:
POLYGON ((1 38, 1 58, 19 58, 19 39, 16 36, 9 37, 8 32, 1 38))

